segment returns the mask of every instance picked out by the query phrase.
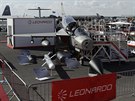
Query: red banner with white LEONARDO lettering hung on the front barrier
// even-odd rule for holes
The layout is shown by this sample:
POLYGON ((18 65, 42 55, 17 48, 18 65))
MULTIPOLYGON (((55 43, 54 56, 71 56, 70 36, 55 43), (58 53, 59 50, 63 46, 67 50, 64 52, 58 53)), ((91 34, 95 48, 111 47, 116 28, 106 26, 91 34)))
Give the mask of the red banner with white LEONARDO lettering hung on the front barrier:
POLYGON ((109 101, 115 97, 115 73, 52 82, 52 101, 109 101))

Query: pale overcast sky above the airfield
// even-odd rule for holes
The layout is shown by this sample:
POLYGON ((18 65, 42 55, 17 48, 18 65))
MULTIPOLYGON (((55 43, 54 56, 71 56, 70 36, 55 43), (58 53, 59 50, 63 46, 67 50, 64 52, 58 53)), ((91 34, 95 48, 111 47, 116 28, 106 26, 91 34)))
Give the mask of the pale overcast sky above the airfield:
MULTIPOLYGON (((134 15, 135 0, 0 0, 0 14, 4 7, 9 5, 12 15, 38 16, 38 11, 29 8, 50 8, 61 15, 61 2, 67 15, 96 15, 105 16, 134 15)), ((51 11, 42 11, 43 16, 51 11)))

